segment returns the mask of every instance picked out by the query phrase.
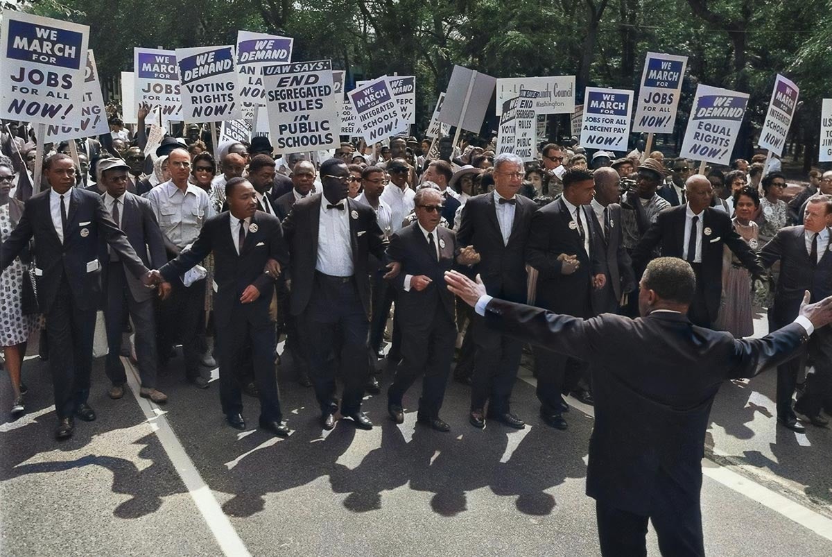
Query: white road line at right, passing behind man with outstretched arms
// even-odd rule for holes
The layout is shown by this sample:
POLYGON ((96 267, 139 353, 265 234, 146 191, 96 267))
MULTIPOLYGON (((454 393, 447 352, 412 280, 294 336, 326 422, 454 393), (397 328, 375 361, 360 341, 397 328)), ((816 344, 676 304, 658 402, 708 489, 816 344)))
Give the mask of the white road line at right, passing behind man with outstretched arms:
MULTIPOLYGON (((519 378, 526 381, 529 385, 537 386, 537 380, 532 375, 520 375, 519 378)), ((592 406, 584 405, 574 400, 571 396, 567 396, 565 400, 572 408, 581 410, 593 418, 595 417, 595 410, 592 406)), ((826 540, 832 540, 832 520, 800 505, 800 503, 790 500, 788 497, 780 495, 776 491, 770 490, 764 485, 760 485, 754 480, 750 480, 748 477, 738 474, 734 470, 730 470, 730 468, 718 465, 715 461, 708 458, 702 459, 702 475, 725 485, 740 495, 745 495, 750 500, 755 500, 760 505, 764 505, 798 525, 812 530, 815 534, 820 535, 826 540)))

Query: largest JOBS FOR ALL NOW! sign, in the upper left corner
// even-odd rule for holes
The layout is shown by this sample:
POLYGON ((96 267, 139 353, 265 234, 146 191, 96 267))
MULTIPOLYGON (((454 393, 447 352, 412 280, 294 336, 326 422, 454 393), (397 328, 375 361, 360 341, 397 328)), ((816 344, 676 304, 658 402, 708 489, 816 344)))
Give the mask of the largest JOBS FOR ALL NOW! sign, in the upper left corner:
POLYGON ((3 10, 0 117, 80 127, 90 28, 3 10))

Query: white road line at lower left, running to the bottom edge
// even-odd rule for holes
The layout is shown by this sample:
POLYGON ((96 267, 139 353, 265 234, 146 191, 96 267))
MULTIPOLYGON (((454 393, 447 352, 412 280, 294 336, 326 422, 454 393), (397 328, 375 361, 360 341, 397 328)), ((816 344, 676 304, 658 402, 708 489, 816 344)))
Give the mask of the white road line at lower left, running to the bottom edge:
POLYGON ((166 413, 161 411, 159 406, 151 400, 141 398, 136 368, 126 358, 121 358, 121 361, 124 362, 128 371, 126 374, 127 383, 130 385, 133 396, 136 397, 141 411, 144 412, 148 423, 156 433, 156 437, 159 438, 162 449, 171 459, 171 463, 176 468, 176 473, 185 483, 188 494, 194 500, 196 509, 200 511, 217 544, 220 545, 220 549, 228 557, 250 557, 251 554, 245 548, 243 540, 240 540, 240 535, 237 535, 234 526, 231 525, 228 517, 222 512, 220 503, 215 499, 205 481, 202 480, 202 476, 196 470, 191 457, 186 453, 185 447, 176 438, 176 434, 171 429, 171 424, 165 416, 166 413))

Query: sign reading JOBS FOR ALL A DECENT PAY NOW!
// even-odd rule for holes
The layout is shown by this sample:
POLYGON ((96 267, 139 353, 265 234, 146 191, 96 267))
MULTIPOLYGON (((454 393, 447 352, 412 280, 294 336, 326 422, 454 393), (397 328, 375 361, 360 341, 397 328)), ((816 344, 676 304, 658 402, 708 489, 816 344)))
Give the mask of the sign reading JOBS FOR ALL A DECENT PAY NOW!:
POLYGON ((583 103, 582 147, 626 152, 632 92, 587 87, 583 103))

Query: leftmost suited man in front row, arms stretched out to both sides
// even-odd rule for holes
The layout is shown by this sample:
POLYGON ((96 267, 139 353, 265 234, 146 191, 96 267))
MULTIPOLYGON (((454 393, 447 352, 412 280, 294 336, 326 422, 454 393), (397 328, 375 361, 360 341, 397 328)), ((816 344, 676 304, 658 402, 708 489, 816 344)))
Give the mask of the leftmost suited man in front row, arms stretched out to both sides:
POLYGON ((74 415, 85 421, 96 419, 87 397, 96 306, 101 299, 99 235, 133 276, 146 280, 148 270, 107 214, 102 197, 72 187, 75 165, 71 157, 61 153, 49 157, 43 172, 51 187, 26 201, 17 227, 0 249, 0 271, 34 238, 37 301, 47 317, 49 367, 59 421, 55 436, 62 440, 72 436, 74 415))

